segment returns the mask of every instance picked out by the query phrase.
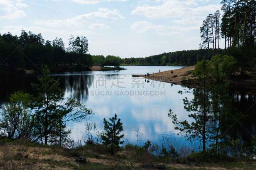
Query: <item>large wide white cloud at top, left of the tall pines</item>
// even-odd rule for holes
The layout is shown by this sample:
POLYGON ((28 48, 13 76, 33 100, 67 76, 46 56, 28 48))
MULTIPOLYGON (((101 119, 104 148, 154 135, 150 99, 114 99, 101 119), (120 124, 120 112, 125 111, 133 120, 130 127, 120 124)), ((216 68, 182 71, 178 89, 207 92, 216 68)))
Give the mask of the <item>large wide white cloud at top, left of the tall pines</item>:
POLYGON ((221 9, 221 4, 198 6, 196 0, 165 0, 160 6, 138 5, 132 14, 144 15, 149 18, 180 18, 206 16, 221 9))

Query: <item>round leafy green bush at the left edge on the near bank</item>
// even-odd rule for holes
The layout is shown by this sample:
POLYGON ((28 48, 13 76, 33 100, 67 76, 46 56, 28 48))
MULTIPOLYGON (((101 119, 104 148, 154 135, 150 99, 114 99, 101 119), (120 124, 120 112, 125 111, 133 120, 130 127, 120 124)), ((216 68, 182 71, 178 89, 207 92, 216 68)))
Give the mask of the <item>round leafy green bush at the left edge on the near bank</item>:
POLYGON ((11 94, 10 102, 2 110, 0 128, 9 139, 30 138, 34 129, 34 115, 28 108, 29 94, 21 91, 11 94))

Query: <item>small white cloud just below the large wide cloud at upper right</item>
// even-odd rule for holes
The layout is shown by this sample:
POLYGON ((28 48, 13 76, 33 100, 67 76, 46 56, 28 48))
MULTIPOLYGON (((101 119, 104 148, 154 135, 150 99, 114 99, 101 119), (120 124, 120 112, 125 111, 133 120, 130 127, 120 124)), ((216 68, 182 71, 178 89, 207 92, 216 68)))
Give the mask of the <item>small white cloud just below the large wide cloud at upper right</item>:
POLYGON ((157 31, 165 30, 165 26, 162 26, 162 25, 154 26, 148 21, 138 21, 138 22, 134 22, 131 25, 131 29, 139 30, 139 31, 136 31, 136 33, 143 33, 149 30, 157 30, 157 31))

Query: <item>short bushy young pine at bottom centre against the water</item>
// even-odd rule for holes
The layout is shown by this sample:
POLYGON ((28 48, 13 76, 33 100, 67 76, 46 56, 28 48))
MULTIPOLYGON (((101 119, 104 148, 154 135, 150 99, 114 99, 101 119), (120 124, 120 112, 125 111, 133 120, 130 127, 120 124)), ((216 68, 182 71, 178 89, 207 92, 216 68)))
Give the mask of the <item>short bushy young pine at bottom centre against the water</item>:
POLYGON ((123 144, 124 141, 120 141, 124 135, 120 135, 120 132, 123 131, 123 126, 121 119, 117 120, 117 115, 115 117, 109 118, 110 122, 108 122, 104 118, 104 130, 105 134, 102 136, 102 140, 104 141, 103 144, 106 144, 110 148, 110 153, 114 154, 116 151, 119 150, 119 144, 123 144), (117 120, 117 122, 116 122, 117 120))

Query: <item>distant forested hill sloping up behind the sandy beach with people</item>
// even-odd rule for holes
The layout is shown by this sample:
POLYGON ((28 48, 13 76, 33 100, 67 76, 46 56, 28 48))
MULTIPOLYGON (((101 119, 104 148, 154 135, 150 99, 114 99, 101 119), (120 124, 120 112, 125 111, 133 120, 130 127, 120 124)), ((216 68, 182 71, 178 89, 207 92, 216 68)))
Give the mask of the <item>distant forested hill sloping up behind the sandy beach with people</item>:
MULTIPOLYGON (((225 55, 225 49, 219 49, 220 55, 225 55)), ((124 64, 138 65, 195 65, 202 59, 207 59, 208 49, 183 50, 159 55, 152 55, 145 58, 124 58, 124 64)), ((213 50, 209 52, 209 56, 213 56, 213 50)), ((211 58, 209 58, 211 59, 211 58)))

